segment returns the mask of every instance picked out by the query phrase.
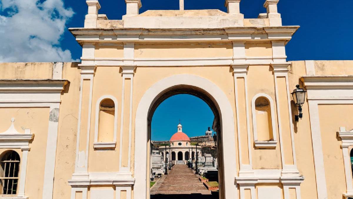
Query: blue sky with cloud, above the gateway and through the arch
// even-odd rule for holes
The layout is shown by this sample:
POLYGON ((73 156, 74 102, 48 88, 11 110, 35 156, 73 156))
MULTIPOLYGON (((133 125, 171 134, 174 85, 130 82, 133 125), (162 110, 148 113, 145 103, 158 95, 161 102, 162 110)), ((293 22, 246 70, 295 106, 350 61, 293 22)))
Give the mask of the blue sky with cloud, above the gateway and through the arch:
MULTIPOLYGON (((242 0, 245 18, 264 13, 264 0, 242 0)), ((125 15, 124 0, 100 0, 109 19, 125 15)), ((146 10, 178 10, 179 0, 142 0, 146 10)), ((288 61, 353 59, 353 0, 280 0, 283 25, 301 28, 286 46, 288 61)), ((224 0, 185 0, 185 9, 219 9, 224 0)), ((0 62, 79 61, 82 49, 67 28, 83 27, 85 0, 0 0, 0 62)), ((168 140, 181 119, 189 136, 212 125, 207 104, 193 96, 174 96, 157 108, 152 139, 168 140), (180 110, 178 113, 177 111, 180 110), (158 128, 157 128, 158 127, 158 128)))

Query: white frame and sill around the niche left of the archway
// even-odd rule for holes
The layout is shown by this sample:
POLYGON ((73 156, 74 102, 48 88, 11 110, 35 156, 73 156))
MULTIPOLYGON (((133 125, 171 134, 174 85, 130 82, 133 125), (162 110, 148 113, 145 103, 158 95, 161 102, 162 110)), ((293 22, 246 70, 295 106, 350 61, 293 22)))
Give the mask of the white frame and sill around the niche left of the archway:
POLYGON ((118 128, 118 100, 112 95, 103 95, 97 100, 96 103, 96 117, 95 117, 95 128, 94 128, 94 142, 93 147, 95 149, 115 148, 116 146, 116 131, 118 128), (114 102, 114 137, 112 142, 98 142, 98 127, 99 127, 99 112, 100 104, 104 99, 111 99, 114 102))

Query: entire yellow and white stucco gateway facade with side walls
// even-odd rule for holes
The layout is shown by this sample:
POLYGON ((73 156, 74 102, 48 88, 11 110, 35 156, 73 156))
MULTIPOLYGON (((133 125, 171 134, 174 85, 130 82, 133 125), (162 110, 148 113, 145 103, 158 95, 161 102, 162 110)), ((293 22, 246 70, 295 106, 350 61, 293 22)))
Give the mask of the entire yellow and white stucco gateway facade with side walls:
POLYGON ((353 61, 288 62, 299 27, 282 26, 278 0, 257 19, 240 0, 226 0, 228 13, 141 14, 125 1, 122 20, 87 1, 84 28, 70 28, 81 63, 0 63, 0 154, 21 158, 18 193, 0 198, 149 198, 151 118, 178 93, 215 114, 220 198, 353 196, 353 61))

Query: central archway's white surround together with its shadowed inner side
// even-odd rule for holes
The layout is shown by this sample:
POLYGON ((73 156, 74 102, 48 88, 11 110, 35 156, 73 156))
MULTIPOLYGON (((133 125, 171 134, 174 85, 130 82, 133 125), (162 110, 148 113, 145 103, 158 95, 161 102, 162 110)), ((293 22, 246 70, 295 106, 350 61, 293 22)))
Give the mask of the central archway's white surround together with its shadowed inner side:
POLYGON ((209 104, 216 121, 219 142, 220 198, 237 198, 234 113, 225 93, 200 76, 180 74, 164 78, 152 85, 141 98, 135 120, 134 197, 149 198, 149 164, 151 116, 167 97, 180 93, 195 95, 209 104), (225 150, 226 149, 226 150, 225 150), (226 175, 225 175, 226 174, 226 175))

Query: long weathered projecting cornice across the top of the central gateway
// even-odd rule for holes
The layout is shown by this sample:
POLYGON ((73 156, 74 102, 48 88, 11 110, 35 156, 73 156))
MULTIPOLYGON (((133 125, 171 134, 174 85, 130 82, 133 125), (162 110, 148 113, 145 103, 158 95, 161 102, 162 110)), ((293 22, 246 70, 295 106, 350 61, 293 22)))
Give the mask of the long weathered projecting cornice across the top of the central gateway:
POLYGON ((69 28, 81 45, 84 42, 288 42, 299 26, 234 27, 213 29, 69 28), (200 36, 202 35, 202 36, 200 36))

